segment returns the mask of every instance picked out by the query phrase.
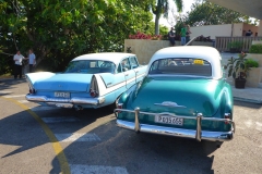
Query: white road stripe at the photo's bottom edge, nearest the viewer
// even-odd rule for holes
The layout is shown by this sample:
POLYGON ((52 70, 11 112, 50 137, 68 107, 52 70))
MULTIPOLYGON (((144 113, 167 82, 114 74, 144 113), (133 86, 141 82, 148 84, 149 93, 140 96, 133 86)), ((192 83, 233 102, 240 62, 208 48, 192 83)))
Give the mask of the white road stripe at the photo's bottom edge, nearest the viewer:
POLYGON ((121 166, 104 166, 104 165, 78 165, 70 164, 72 174, 95 173, 95 174, 128 174, 126 167, 121 166))

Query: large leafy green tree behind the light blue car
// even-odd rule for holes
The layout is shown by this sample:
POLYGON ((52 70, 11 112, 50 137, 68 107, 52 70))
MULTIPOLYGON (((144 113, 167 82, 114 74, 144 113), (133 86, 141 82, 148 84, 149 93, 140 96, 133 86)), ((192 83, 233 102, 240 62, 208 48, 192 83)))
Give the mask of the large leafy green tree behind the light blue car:
MULTIPOLYGON (((79 54, 123 51, 130 33, 146 32, 151 1, 0 0, 0 51, 33 48, 37 65, 45 60, 48 71, 62 71, 79 54)), ((12 60, 1 52, 0 59, 12 60)))

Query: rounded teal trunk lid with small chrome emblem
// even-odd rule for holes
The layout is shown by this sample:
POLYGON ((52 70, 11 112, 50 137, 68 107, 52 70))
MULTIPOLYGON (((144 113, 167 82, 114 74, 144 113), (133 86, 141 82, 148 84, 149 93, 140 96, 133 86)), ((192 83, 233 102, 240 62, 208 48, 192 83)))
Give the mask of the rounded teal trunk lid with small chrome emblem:
POLYGON ((145 78, 128 104, 144 112, 212 116, 219 107, 221 86, 218 80, 206 78, 145 78))

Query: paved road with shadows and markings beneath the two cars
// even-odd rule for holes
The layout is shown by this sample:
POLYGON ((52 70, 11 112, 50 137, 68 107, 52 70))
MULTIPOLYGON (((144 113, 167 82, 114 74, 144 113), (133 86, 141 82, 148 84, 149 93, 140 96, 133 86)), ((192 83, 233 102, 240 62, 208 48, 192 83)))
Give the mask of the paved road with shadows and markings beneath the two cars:
POLYGON ((215 142, 135 134, 99 110, 27 102, 27 84, 0 82, 0 173, 258 173, 262 171, 261 104, 235 102, 235 139, 215 142))

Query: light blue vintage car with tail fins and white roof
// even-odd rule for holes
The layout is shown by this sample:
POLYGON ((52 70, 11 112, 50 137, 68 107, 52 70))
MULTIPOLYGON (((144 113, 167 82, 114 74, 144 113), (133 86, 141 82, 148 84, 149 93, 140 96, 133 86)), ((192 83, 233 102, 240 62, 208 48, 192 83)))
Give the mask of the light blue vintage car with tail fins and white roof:
POLYGON ((146 72, 135 54, 90 53, 73 59, 63 73, 26 74, 28 101, 60 108, 116 107, 119 96, 146 72))

